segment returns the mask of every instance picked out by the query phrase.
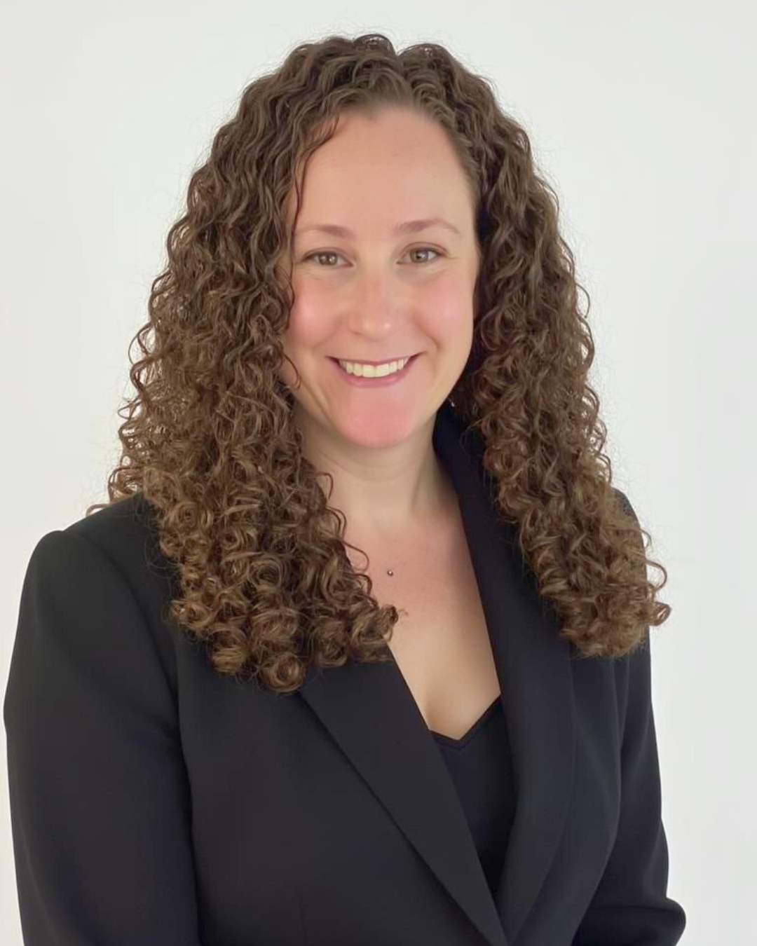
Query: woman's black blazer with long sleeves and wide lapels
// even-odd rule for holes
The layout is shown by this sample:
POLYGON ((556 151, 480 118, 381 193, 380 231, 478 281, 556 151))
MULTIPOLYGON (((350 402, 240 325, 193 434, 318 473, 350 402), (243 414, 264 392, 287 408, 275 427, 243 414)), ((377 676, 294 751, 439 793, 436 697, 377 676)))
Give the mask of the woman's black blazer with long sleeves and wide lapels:
POLYGON ((166 617, 138 496, 26 570, 4 721, 27 946, 678 942, 648 635, 614 660, 558 639, 461 434, 443 407, 517 782, 496 898, 394 659, 289 695, 221 677, 166 617))

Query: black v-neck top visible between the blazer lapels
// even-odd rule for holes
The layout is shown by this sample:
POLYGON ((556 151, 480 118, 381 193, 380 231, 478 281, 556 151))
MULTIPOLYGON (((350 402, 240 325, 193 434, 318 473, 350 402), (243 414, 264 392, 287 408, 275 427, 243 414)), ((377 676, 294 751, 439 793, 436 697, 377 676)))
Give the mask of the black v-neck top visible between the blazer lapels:
POLYGON ((432 730, 431 736, 447 762, 486 882, 492 896, 496 896, 515 814, 512 762, 502 700, 498 696, 460 739, 450 739, 432 730))

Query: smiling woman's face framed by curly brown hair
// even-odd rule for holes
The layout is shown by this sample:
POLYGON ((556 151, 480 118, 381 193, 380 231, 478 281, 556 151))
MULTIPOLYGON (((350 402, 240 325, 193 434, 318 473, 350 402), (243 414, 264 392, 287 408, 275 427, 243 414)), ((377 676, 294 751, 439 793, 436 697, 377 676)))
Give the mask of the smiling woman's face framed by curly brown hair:
POLYGON ((407 110, 343 114, 308 161, 294 231, 283 344, 301 380, 286 360, 280 377, 295 414, 362 447, 425 428, 466 365, 478 270, 473 203, 445 132, 407 110), (397 229, 431 218, 449 226, 397 229), (380 386, 351 383, 335 360, 407 356, 380 386))

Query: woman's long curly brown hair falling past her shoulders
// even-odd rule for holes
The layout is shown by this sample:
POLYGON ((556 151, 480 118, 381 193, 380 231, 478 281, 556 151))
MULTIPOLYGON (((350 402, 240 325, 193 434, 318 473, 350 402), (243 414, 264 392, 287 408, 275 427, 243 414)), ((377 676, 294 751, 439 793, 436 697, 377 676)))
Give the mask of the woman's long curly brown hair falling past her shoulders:
POLYGON ((439 44, 396 51, 380 33, 328 36, 249 84, 194 170, 149 321, 132 339, 137 394, 118 411, 109 501, 86 511, 141 494, 176 568, 171 616, 220 674, 271 691, 296 691, 310 662, 391 658, 398 612, 351 566, 345 517, 303 456, 278 368, 293 299, 292 188, 299 195, 308 155, 343 111, 393 107, 447 131, 475 197, 478 315, 450 395, 483 438, 497 505, 561 636, 582 656, 622 657, 670 612, 655 601, 667 572, 645 555, 650 536, 610 485, 579 289, 587 314, 589 297, 526 132, 488 80, 439 44))

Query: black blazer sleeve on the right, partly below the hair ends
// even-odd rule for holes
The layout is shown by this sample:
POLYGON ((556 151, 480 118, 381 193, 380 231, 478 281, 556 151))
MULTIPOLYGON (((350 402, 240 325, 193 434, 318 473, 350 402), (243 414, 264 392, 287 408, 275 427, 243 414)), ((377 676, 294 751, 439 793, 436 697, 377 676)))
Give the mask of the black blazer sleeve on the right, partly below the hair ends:
MULTIPOLYGON (((638 524, 628 500, 623 494, 620 499, 638 524)), ((684 910, 667 896, 649 643, 647 627, 639 648, 618 660, 627 680, 621 815, 605 872, 572 946, 674 946, 686 925, 684 910)))

